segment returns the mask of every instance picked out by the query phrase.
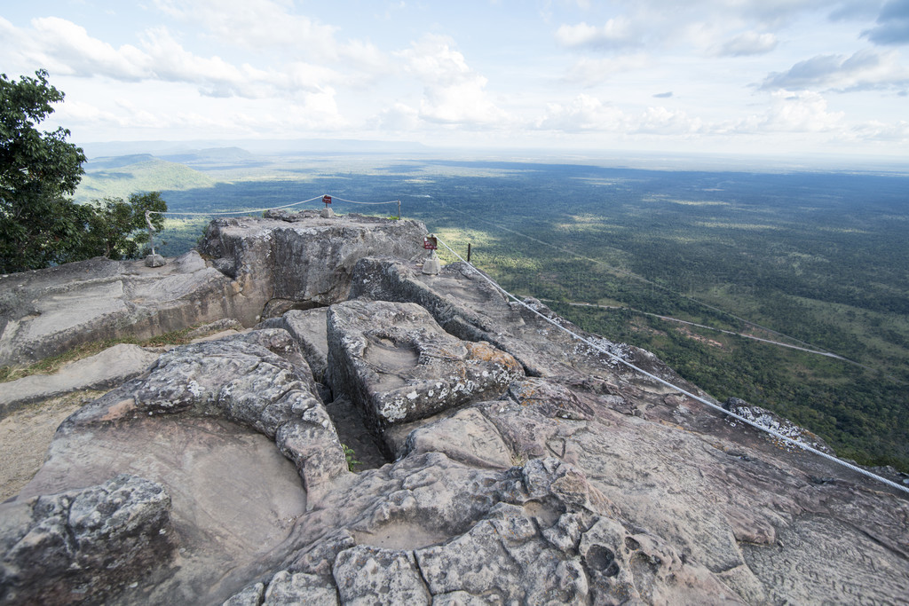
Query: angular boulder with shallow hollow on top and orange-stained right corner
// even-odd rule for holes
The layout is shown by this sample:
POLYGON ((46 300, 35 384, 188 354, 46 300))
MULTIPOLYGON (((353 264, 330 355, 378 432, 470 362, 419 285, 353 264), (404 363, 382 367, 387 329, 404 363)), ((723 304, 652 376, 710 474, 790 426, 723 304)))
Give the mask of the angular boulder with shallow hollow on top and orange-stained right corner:
POLYGON ((512 356, 445 333, 415 303, 348 301, 328 312, 328 382, 380 428, 497 397, 523 375, 512 356))

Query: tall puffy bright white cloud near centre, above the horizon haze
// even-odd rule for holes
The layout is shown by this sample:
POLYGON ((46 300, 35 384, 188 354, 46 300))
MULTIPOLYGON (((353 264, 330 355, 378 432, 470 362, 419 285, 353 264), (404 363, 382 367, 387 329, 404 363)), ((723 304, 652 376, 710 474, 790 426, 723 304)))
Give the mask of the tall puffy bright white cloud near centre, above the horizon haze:
POLYGON ((485 92, 487 80, 472 70, 445 36, 425 35, 397 54, 423 84, 420 117, 446 124, 501 124, 508 115, 485 92))

